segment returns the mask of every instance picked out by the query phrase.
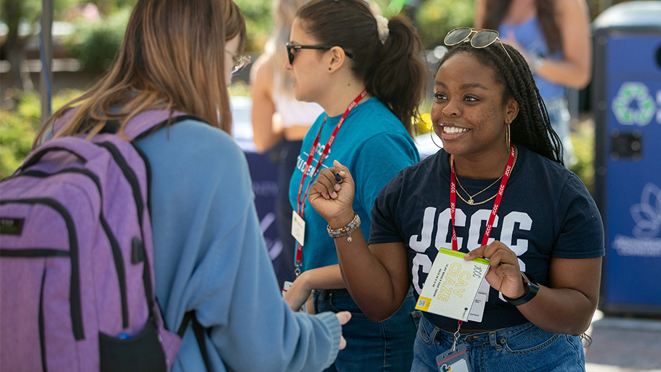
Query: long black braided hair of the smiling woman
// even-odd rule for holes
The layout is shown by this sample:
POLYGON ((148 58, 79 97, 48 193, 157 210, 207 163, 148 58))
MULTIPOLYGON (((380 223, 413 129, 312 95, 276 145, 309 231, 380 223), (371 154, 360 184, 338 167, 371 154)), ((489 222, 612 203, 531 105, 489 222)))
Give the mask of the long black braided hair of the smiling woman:
POLYGON ((562 141, 551 127, 546 105, 521 53, 500 41, 486 48, 473 48, 470 43, 459 43, 445 53, 439 68, 459 52, 470 53, 480 63, 492 68, 496 81, 505 87, 503 101, 514 98, 518 103, 518 115, 510 124, 512 142, 564 165, 562 141), (512 56, 512 61, 503 47, 512 56))

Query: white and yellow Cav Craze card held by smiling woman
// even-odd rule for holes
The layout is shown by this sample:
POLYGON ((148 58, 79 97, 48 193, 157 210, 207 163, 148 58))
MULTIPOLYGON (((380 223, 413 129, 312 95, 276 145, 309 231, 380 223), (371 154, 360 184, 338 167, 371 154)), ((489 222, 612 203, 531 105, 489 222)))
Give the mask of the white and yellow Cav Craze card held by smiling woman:
POLYGON ((489 261, 484 258, 466 261, 463 256, 463 252, 439 249, 416 309, 464 322, 468 320, 489 261))

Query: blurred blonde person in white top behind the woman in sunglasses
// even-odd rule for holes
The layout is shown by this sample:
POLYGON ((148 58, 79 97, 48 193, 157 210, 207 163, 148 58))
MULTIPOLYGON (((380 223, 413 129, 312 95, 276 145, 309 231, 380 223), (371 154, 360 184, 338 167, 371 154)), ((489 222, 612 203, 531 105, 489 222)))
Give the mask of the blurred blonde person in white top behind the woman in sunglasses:
POLYGON ((282 252, 273 260, 277 281, 282 287, 294 275, 296 242, 291 236, 289 180, 296 167, 305 134, 317 116, 324 112, 317 103, 294 98, 293 80, 283 68, 287 60, 286 43, 296 10, 308 0, 275 0, 273 34, 251 69, 253 96, 253 141, 258 152, 266 152, 277 165, 277 195, 275 196, 275 224, 282 242, 282 252))

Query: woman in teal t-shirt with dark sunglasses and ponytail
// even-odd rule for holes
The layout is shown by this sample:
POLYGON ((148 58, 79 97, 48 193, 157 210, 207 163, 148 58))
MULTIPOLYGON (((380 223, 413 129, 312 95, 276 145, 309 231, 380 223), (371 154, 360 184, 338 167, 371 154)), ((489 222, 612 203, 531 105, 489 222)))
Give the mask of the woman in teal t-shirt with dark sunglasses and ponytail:
POLYGON ((291 179, 290 200, 297 219, 304 220, 304 237, 295 236, 304 241, 300 249, 287 247, 297 249, 301 273, 285 299, 300 309, 314 292, 315 312, 353 313, 343 328, 347 347, 330 371, 408 371, 419 316, 412 293, 385 322, 368 319, 345 289, 335 242, 306 190, 334 160, 350 164, 357 178, 353 207, 369 229, 377 194, 419 161, 410 132, 426 79, 420 39, 406 19, 375 17, 362 0, 322 0, 299 10, 289 40, 285 68, 295 97, 319 103, 325 112, 304 138, 291 179))

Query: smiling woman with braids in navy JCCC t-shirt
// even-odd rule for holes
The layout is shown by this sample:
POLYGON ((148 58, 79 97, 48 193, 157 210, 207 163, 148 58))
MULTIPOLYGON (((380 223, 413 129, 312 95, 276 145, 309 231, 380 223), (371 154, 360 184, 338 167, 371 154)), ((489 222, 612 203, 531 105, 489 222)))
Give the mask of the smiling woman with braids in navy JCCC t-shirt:
POLYGON ((350 169, 324 169, 309 200, 338 231, 344 282, 373 320, 397 311, 410 285, 419 296, 439 249, 490 260, 481 322, 424 312, 412 371, 438 371, 437 355, 453 342, 466 348, 471 371, 584 371, 578 335, 597 305, 602 221, 561 165, 560 138, 525 59, 497 36, 462 28, 445 37, 454 46, 441 59, 431 110, 443 149, 377 196, 369 245, 350 223, 359 187, 350 169))

